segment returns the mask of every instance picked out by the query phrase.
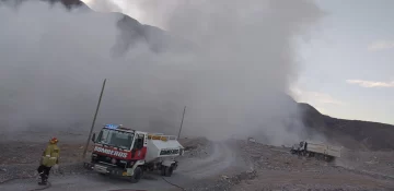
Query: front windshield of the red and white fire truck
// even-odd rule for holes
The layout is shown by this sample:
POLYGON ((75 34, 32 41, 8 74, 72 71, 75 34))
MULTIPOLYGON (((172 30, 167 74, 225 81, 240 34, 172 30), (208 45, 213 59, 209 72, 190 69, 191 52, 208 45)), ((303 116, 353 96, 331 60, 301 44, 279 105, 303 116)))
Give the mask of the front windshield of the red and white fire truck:
POLYGON ((97 136, 97 143, 130 150, 132 139, 134 133, 131 132, 103 129, 97 136))

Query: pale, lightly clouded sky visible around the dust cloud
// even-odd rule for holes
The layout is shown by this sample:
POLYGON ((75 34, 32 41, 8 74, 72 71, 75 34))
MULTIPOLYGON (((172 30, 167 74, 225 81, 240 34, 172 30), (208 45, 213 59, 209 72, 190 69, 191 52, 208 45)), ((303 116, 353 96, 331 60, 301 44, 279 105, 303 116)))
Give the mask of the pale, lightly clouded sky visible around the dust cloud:
MULTIPOLYGON (((394 124, 394 1, 316 1, 328 14, 312 39, 300 43, 296 98, 332 117, 394 124)), ((132 4, 114 2, 154 25, 132 4)))

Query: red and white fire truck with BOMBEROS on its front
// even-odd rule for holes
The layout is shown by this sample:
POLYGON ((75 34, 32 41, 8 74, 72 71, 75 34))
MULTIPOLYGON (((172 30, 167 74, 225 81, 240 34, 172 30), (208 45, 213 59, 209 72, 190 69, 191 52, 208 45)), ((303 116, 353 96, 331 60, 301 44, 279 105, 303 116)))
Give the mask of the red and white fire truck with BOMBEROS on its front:
POLYGON ((144 171, 160 170, 170 177, 177 168, 176 156, 184 147, 176 136, 162 133, 147 133, 123 128, 119 124, 106 124, 92 136, 94 150, 89 167, 101 175, 128 177, 138 182, 144 171))

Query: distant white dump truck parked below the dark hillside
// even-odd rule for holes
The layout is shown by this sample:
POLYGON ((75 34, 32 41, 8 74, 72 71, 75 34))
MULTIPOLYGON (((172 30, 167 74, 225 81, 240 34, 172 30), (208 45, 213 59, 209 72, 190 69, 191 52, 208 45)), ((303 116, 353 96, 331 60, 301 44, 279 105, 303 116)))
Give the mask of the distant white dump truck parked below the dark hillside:
POLYGON ((299 144, 294 144, 290 150, 291 154, 316 157, 317 159, 324 159, 326 162, 332 162, 333 159, 340 157, 340 151, 341 147, 338 146, 310 141, 301 141, 299 144))

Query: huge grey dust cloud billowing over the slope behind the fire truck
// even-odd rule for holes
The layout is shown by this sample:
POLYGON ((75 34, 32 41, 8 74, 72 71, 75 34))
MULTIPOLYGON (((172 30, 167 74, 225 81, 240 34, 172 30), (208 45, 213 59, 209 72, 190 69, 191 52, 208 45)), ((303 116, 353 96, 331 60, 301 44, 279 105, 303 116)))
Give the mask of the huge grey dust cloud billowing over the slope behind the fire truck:
POLYGON ((182 136, 252 135, 280 145, 306 135, 285 93, 298 75, 296 41, 310 35, 323 15, 315 3, 129 2, 138 7, 141 22, 165 28, 166 35, 155 37, 159 32, 152 29, 142 34, 149 39, 134 39, 147 32, 137 28, 137 35, 125 36, 117 13, 67 11, 36 1, 18 10, 0 7, 3 131, 88 131, 101 83, 108 79, 96 128, 123 123, 177 134, 187 106, 182 136), (166 50, 153 51, 155 40, 169 44, 166 50), (194 48, 178 51, 179 41, 194 48))

